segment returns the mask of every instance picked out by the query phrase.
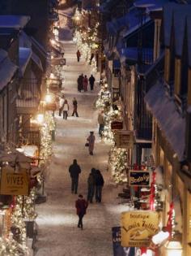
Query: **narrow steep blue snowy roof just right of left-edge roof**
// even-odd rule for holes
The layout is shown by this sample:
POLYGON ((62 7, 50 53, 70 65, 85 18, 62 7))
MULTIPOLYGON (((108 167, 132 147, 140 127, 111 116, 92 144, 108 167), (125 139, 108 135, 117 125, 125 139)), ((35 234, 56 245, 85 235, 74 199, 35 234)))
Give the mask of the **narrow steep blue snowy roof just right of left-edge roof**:
POLYGON ((23 76, 31 57, 32 50, 30 48, 19 47, 19 72, 21 76, 23 76))

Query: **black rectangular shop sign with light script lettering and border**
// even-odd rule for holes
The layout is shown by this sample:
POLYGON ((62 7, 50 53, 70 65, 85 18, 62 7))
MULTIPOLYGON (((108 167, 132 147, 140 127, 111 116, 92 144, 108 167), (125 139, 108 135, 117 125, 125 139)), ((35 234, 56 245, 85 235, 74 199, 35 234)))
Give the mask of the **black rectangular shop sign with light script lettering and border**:
POLYGON ((129 186, 148 187, 150 182, 150 171, 129 171, 129 186))

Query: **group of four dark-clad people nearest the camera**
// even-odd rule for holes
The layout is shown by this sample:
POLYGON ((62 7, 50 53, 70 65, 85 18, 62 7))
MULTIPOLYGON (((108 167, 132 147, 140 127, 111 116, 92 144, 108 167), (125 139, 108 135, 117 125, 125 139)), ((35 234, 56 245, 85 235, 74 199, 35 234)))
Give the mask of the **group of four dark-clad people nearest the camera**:
MULTIPOLYGON (((81 173, 81 167, 77 163, 77 160, 73 160, 73 164, 69 167, 71 178, 71 193, 78 193, 79 186, 79 174, 81 173)), ((96 195, 96 202, 102 200, 102 189, 104 187, 104 177, 100 170, 92 168, 87 178, 87 200, 83 198, 82 194, 79 194, 78 200, 75 202, 76 213, 79 216, 78 228, 83 229, 83 216, 86 214, 88 202, 93 202, 93 197, 96 195)))

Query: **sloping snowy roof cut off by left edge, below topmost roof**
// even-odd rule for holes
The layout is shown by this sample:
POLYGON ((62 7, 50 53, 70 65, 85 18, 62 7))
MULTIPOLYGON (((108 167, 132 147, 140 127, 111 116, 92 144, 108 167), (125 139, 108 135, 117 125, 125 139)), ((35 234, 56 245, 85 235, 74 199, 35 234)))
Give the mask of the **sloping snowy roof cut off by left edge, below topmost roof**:
POLYGON ((12 79, 18 67, 11 62, 5 50, 0 49, 0 90, 12 79))

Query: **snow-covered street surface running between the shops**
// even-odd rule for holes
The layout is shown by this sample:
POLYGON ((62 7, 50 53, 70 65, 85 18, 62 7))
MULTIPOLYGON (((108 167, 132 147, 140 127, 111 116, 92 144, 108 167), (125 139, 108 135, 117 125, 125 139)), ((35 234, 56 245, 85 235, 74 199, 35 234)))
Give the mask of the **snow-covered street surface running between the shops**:
POLYGON ((76 46, 72 41, 64 41, 63 46, 66 52, 64 91, 70 111, 67 120, 56 114, 56 141, 53 143, 53 156, 45 180, 47 202, 36 206, 36 256, 111 256, 111 228, 120 224, 121 211, 129 207, 118 204, 117 193, 122 188, 112 183, 111 174, 107 171, 109 146, 98 137, 95 101, 99 86, 96 85, 94 92, 78 92, 77 77, 82 72, 90 76, 91 67, 84 60, 77 63, 76 46), (79 118, 70 116, 74 97, 79 102, 79 118), (93 156, 88 154, 84 146, 91 130, 96 133, 93 156), (87 197, 87 176, 92 167, 100 168, 105 180, 103 202, 94 202, 88 206, 83 231, 77 228, 78 216, 74 207, 77 195, 70 193, 68 168, 74 158, 82 168, 78 192, 84 197, 87 197))

